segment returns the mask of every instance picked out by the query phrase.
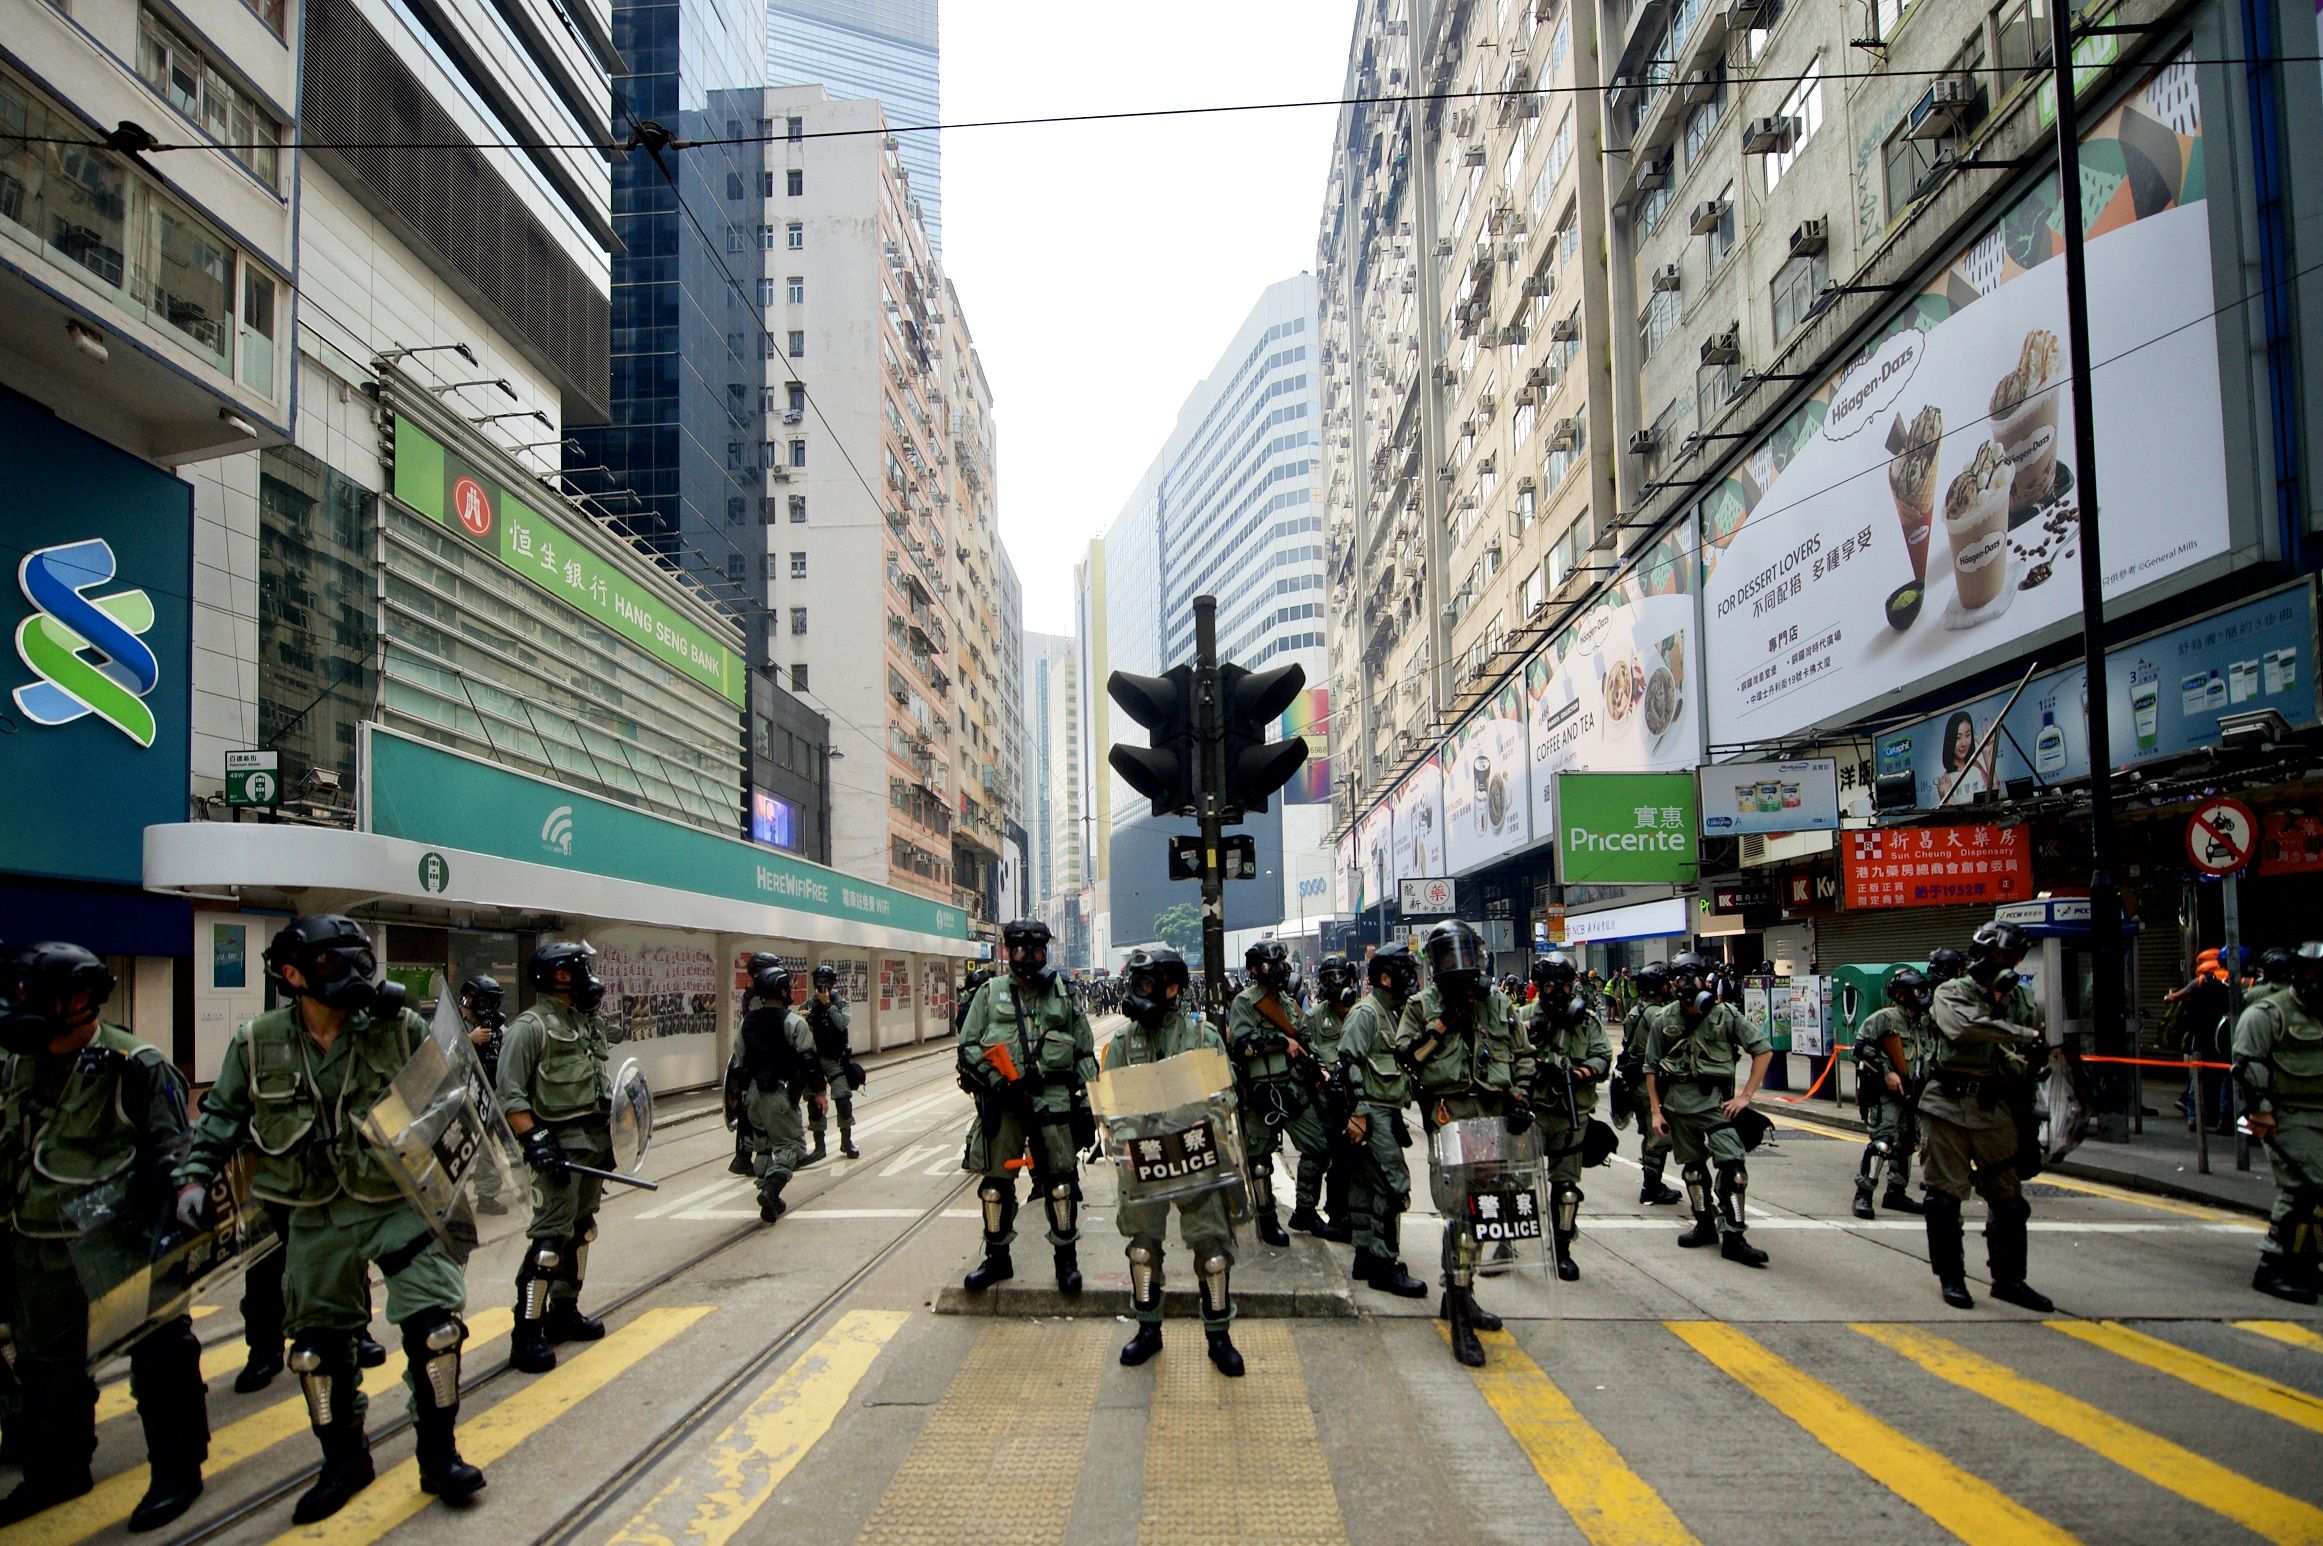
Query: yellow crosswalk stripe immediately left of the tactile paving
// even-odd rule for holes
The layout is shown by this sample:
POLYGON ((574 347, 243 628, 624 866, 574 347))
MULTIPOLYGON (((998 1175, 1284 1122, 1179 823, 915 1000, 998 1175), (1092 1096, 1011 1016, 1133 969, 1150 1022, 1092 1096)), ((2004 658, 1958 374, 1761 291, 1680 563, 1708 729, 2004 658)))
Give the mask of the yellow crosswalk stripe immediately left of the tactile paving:
POLYGON ((908 1321, 894 1309, 850 1309, 781 1379, 757 1393, 709 1451, 609 1537, 609 1546, 722 1546, 767 1507, 799 1460, 846 1411, 855 1386, 908 1321))

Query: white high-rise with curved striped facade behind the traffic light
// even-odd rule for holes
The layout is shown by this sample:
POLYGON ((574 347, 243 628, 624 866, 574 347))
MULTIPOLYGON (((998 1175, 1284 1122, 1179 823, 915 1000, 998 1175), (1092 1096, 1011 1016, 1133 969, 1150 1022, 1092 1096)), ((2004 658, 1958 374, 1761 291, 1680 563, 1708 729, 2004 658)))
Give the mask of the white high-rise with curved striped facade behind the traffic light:
MULTIPOLYGON (((1268 286, 1180 406, 1171 439, 1083 571, 1083 606, 1103 617, 1092 631, 1103 638, 1108 671, 1159 673, 1192 659, 1194 597, 1217 597, 1220 659, 1306 671, 1310 689, 1287 715, 1289 734, 1319 729, 1329 692, 1322 511, 1312 501, 1322 455, 1315 355, 1315 279, 1268 286)), ((1103 678, 1094 662, 1083 680, 1092 722, 1103 715, 1089 747, 1092 775, 1110 782, 1106 870, 1092 912, 1101 919, 1101 952, 1117 954, 1155 940, 1155 915, 1187 898, 1182 884, 1168 882, 1168 836, 1185 822, 1150 815, 1143 796, 1096 771, 1113 741, 1138 731, 1099 703, 1103 678)), ((1329 912, 1315 889, 1331 873, 1319 736, 1312 764, 1243 831, 1257 840, 1261 873, 1229 887, 1229 931, 1329 912)))

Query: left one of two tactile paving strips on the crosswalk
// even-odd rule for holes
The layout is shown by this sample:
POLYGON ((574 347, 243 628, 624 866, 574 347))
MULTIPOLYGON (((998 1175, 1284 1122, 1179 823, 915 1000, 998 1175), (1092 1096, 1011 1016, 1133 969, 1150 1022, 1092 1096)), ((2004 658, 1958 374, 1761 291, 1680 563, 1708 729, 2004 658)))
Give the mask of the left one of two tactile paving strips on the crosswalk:
POLYGON ((983 1332, 857 1546, 1064 1541, 1110 1353, 1108 1321, 983 1332))

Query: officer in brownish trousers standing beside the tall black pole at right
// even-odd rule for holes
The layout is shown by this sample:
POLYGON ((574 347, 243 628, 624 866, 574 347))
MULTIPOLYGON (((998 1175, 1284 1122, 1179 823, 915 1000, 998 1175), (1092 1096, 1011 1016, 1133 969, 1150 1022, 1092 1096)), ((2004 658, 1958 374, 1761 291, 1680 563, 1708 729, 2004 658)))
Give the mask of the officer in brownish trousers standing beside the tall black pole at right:
POLYGON ((1928 1193, 1928 1270, 1954 1309, 1975 1307, 1961 1249, 1961 1202, 1970 1186, 1984 1198, 1993 1298, 2056 1309, 2026 1284, 2033 1205, 2016 1175, 2014 1084, 2030 1077, 2033 1059, 2047 1052, 2040 1005, 2016 977, 2028 949, 2033 938, 2016 924, 1984 924, 1968 945, 1968 973, 1935 991, 1933 1065, 1919 1098, 1921 1189, 1928 1193))

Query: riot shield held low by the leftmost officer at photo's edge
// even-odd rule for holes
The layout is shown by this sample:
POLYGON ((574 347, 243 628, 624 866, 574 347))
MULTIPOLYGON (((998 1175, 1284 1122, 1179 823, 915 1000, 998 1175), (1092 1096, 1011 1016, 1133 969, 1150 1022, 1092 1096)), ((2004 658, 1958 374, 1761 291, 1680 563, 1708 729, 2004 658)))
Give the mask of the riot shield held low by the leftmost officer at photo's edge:
POLYGON ((163 1321, 186 1314, 197 1295, 218 1295, 281 1235, 251 1198, 256 1156, 239 1156, 209 1182, 202 1228, 186 1228, 167 1186, 128 1177, 100 1182, 65 1205, 81 1230, 72 1265, 88 1298, 88 1367, 114 1358, 163 1321))

